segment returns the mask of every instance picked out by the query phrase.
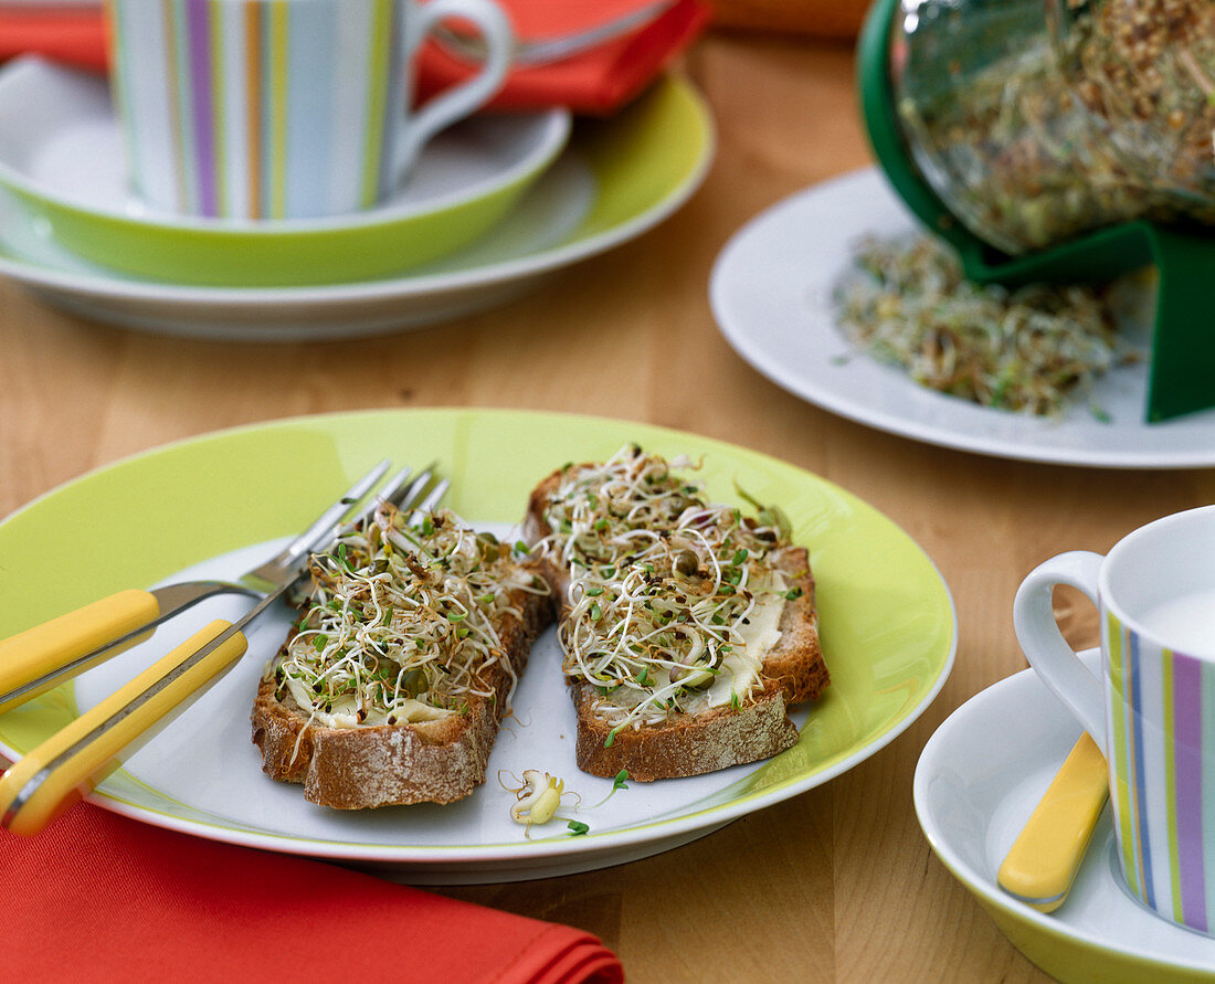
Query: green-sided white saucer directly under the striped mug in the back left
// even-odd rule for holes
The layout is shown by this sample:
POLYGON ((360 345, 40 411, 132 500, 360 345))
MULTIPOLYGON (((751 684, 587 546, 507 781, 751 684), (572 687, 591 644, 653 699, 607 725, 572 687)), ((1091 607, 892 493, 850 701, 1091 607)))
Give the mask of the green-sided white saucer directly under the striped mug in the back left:
POLYGON ((566 109, 464 120, 364 213, 236 222, 142 211, 106 81, 38 58, 0 68, 0 186, 86 260, 176 284, 347 283, 436 260, 492 231, 558 158, 566 109))

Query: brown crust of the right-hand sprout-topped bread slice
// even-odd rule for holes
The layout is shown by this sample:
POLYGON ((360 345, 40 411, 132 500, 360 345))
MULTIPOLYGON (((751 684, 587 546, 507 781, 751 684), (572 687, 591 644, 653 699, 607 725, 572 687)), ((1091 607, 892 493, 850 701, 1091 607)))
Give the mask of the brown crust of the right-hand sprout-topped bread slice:
MULTIPOLYGON (((559 469, 532 490, 524 521, 524 538, 529 543, 538 543, 553 533, 544 511, 563 475, 559 469)), ((789 718, 787 707, 818 700, 831 677, 819 640, 809 553, 804 547, 787 545, 773 550, 768 559, 801 593, 784 603, 780 639, 763 661, 763 690, 738 708, 723 706, 699 714, 677 713, 661 724, 621 729, 609 745, 612 726, 595 713, 599 695, 594 686, 569 679, 577 711, 580 769, 605 777, 627 769, 631 779, 649 782, 758 762, 796 743, 797 726, 789 718)), ((553 589, 561 617, 567 607, 569 573, 552 558, 541 561, 541 571, 553 589)))

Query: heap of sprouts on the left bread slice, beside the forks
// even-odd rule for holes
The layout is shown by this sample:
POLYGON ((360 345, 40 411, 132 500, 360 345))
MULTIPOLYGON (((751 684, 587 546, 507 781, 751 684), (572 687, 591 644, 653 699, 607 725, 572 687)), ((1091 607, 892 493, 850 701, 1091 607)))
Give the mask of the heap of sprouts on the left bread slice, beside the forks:
POLYGON ((514 682, 495 624, 522 618, 512 592, 547 594, 547 586, 450 510, 409 519, 385 504, 310 559, 303 616, 266 671, 310 723, 434 720, 462 712, 473 695, 492 699, 486 671, 495 665, 514 682))

